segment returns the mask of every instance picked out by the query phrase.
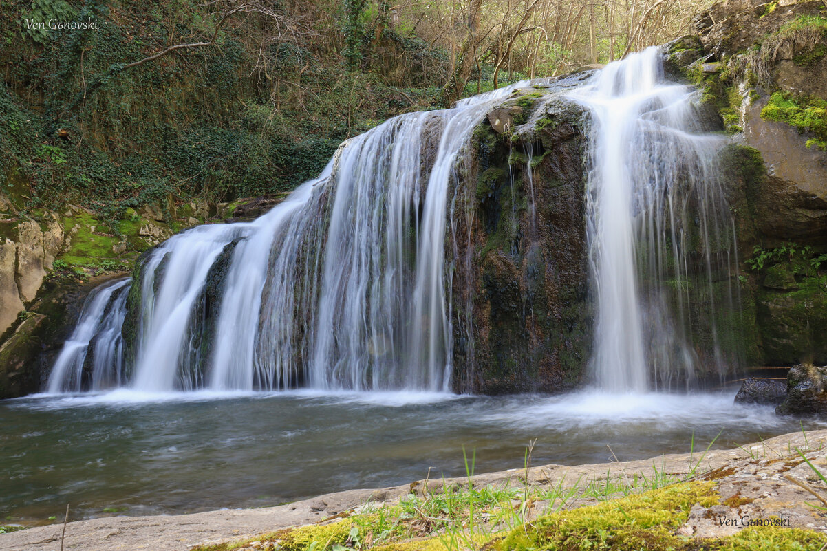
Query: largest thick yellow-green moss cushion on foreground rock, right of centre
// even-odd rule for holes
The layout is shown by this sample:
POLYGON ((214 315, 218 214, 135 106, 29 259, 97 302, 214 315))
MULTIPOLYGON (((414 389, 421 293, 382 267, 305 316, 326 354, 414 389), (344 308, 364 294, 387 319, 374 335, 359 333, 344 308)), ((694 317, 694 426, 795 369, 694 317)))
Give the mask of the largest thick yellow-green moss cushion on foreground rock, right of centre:
POLYGON ((500 551, 552 549, 677 549, 672 535, 692 505, 717 505, 711 482, 667 486, 637 496, 548 515, 512 530, 492 546, 500 551))

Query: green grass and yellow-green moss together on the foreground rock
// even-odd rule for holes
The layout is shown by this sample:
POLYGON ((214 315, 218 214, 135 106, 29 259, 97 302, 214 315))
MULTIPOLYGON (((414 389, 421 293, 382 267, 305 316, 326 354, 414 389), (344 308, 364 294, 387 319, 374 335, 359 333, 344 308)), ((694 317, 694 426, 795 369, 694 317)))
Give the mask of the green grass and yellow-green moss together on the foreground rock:
MULTIPOLYGON (((803 457, 797 449, 790 453, 803 457)), ((758 460, 753 451, 750 454, 758 460)), ((772 525, 751 526, 716 539, 676 534, 694 505, 723 504, 737 509, 753 501, 740 496, 722 500, 715 485, 734 472, 726 467, 706 472, 702 477, 705 482, 683 482, 695 474, 704 457, 700 455, 697 462, 691 459, 690 472, 682 477, 667 474, 664 469, 658 471, 653 465, 651 476, 627 476, 621 471, 614 477, 606 473, 589 481, 581 477, 568 486, 562 480, 557 486, 532 486, 526 470, 516 477, 522 484, 485 487, 474 486, 473 459, 469 462, 466 458, 468 477, 464 484, 443 481, 441 490, 434 491, 433 483, 414 483, 411 493, 394 505, 367 504, 361 512, 337 515, 345 519, 332 524, 282 529, 242 541, 200 546, 194 551, 251 549, 251 544, 252 549, 290 551, 804 551, 827 544, 825 534, 772 525), (543 510, 538 511, 539 506, 543 510)), ((526 467, 528 461, 527 452, 526 467)))

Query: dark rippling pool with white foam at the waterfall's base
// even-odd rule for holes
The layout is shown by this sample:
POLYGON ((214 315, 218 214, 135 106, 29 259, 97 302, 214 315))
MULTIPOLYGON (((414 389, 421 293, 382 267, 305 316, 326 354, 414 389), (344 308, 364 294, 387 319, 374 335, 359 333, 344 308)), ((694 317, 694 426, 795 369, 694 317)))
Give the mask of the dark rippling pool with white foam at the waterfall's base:
MULTIPOLYGON (((801 430, 734 394, 480 397, 116 390, 0 402, 6 522, 277 505, 533 464, 703 450, 801 430)), ((805 422, 804 429, 824 423, 805 422)))

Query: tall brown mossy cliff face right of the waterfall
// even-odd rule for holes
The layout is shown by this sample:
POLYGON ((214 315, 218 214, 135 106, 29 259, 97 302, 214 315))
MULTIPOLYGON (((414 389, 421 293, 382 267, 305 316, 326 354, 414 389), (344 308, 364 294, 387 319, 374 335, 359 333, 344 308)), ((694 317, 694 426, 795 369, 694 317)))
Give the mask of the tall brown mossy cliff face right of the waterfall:
POLYGON ((673 46, 672 59, 736 144, 743 308, 757 333, 749 365, 825 363, 827 7, 731 0, 696 17, 696 29, 700 40, 673 46))

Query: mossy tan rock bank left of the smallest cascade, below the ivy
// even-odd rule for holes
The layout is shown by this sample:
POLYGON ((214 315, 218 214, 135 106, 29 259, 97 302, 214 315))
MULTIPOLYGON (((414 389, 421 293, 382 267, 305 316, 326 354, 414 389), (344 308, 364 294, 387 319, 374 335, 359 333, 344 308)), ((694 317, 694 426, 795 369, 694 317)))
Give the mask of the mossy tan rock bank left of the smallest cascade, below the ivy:
POLYGON ((203 200, 151 204, 140 213, 127 208, 108 224, 73 204, 26 218, 0 194, 0 399, 41 390, 88 290, 125 275, 139 252, 220 210, 203 200))

